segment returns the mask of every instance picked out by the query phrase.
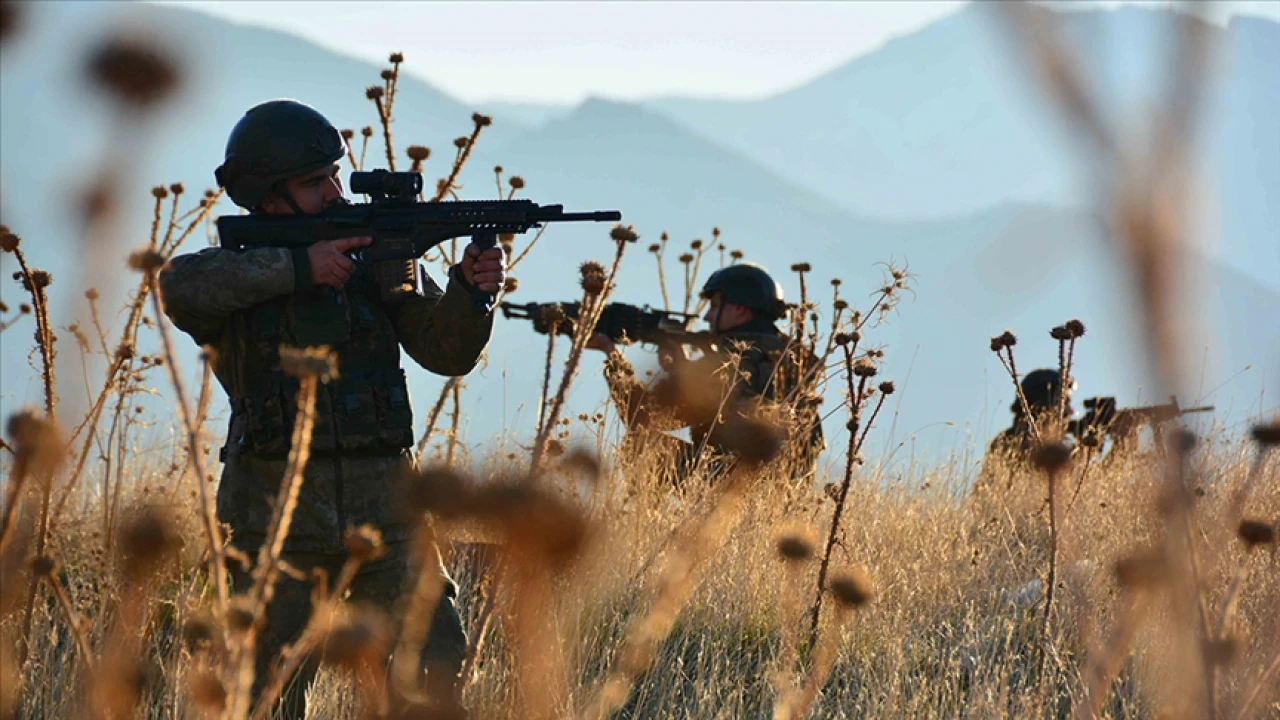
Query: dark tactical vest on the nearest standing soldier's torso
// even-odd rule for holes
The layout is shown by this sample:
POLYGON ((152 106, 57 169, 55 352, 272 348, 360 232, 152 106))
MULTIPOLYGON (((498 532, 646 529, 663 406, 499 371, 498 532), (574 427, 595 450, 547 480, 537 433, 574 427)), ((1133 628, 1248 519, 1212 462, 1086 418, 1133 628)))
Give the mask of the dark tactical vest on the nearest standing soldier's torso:
POLYGON ((371 270, 357 265, 343 292, 308 288, 256 305, 237 320, 243 391, 230 400, 232 428, 241 432, 229 442, 242 452, 276 457, 289 451, 300 382, 280 369, 282 345, 329 346, 338 357, 338 377, 316 395, 312 454, 394 454, 413 443, 399 343, 371 270))

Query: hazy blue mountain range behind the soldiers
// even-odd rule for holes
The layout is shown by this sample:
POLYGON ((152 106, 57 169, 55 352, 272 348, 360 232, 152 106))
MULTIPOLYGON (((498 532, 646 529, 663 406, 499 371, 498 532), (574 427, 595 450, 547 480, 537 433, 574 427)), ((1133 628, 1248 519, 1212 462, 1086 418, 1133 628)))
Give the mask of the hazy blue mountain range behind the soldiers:
MULTIPOLYGON (((150 228, 147 187, 211 186, 227 132, 252 104, 298 97, 339 127, 360 128, 376 118, 364 88, 379 82, 379 67, 288 35, 168 6, 27 8, 24 35, 0 50, 0 211, 24 237, 32 261, 54 272, 55 286, 77 277, 74 263, 83 255, 77 254, 74 191, 109 141, 102 131, 108 108, 79 81, 78 68, 87 40, 122 18, 159 28, 192 58, 182 96, 146 126, 146 142, 131 146, 134 161, 120 168, 122 182, 136 188, 122 206, 118 247, 108 256, 120 258, 125 282, 133 277, 124 254, 150 228)), ((1111 53, 1126 72, 1106 74, 1108 92, 1125 108, 1140 108, 1158 83, 1128 72, 1129 60, 1116 53, 1147 54, 1167 15, 1124 9, 1071 18, 1076 32, 1101 28, 1089 56, 1111 53)), ((1028 92, 1020 68, 1002 54, 988 22, 978 8, 964 10, 755 102, 594 99, 572 108, 468 108, 406 77, 393 132, 401 147, 415 142, 434 150, 430 183, 453 155, 451 140, 470 129, 471 111, 492 113, 494 126, 463 173, 463 197, 492 196, 492 168, 500 164, 527 179, 524 195, 536 201, 621 210, 641 241, 623 263, 620 300, 660 302, 644 249, 663 231, 673 238, 675 255, 695 237, 709 241, 712 227, 719 227, 727 246, 774 270, 792 297, 799 286, 786 269, 794 263, 813 264, 809 287, 823 296, 831 292, 827 281, 841 278, 855 305, 881 282, 878 263, 906 263, 918 275, 915 292, 869 333, 886 346, 884 377, 901 388, 872 451, 892 450, 928 428, 910 450, 936 456, 983 442, 1005 420, 1009 382, 987 348, 987 338, 1005 328, 1025 338, 1018 350, 1020 364, 1030 368, 1055 363, 1048 328, 1080 318, 1088 327, 1076 354, 1082 392, 1152 401, 1140 389, 1147 378, 1124 268, 1107 252, 1100 220, 1078 204, 1083 193, 1071 147, 1028 92)), ((1280 26, 1236 18, 1219 32, 1230 61, 1206 119, 1206 146, 1208 184, 1225 220, 1217 242, 1197 255, 1197 292, 1188 305, 1192 329, 1213 328, 1201 336, 1202 389, 1222 387, 1204 401, 1238 421, 1260 406, 1274 407, 1263 388, 1280 379, 1280 133, 1274 129, 1280 127, 1280 26), (1245 365, 1252 368, 1239 373, 1245 365)), ((371 142, 369 152, 369 167, 385 165, 376 160, 380 142, 371 142)), ((223 211, 236 209, 227 202, 223 211)), ((576 264, 607 259, 607 232, 603 225, 548 231, 517 268, 520 290, 511 300, 575 297, 576 264)), ((193 238, 191 250, 204 242, 193 238)), ((10 260, 0 263, 12 272, 10 260)), ((680 295, 678 274, 668 265, 673 295, 680 295)), ((69 322, 79 292, 65 284, 56 290, 55 311, 69 322)), ((14 305, 18 292, 6 283, 0 297, 14 305)), ((29 323, 0 336, 5 413, 37 397, 26 366, 31 336, 23 328, 29 323)), ((188 346, 184 340, 191 370, 195 348, 188 346)), ((499 319, 488 366, 467 382, 468 439, 504 428, 517 439, 527 437, 544 348, 530 328, 499 319)), ((561 357, 563 348, 562 342, 561 357)), ((64 378, 78 377, 70 357, 61 359, 64 378)), ((635 357, 645 360, 640 351, 635 357)), ((421 424, 440 379, 421 370, 411 377, 421 424)), ((571 410, 595 409, 603 398, 599 356, 589 356, 571 410)), ((835 389, 829 401, 835 407, 835 389)), ((835 445, 844 442, 841 424, 828 421, 835 445)))

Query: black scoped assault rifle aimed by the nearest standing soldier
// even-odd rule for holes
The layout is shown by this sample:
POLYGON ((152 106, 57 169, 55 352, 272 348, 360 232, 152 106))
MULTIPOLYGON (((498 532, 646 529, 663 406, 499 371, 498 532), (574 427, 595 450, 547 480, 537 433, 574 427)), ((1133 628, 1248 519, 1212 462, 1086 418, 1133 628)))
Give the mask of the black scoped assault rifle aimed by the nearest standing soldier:
MULTIPOLYGON (((498 234, 525 233, 543 223, 622 219, 617 210, 566 213, 563 205, 538 205, 532 200, 420 202, 421 173, 351 173, 351 191, 367 195, 370 201, 339 205, 317 215, 223 215, 218 218, 218 237, 229 250, 307 247, 324 240, 372 237, 372 243, 352 251, 352 256, 374 265, 383 297, 390 299, 416 287, 416 260, 444 241, 470 237, 488 250, 498 234)), ((488 313, 493 300, 492 293, 477 293, 476 306, 488 313)))

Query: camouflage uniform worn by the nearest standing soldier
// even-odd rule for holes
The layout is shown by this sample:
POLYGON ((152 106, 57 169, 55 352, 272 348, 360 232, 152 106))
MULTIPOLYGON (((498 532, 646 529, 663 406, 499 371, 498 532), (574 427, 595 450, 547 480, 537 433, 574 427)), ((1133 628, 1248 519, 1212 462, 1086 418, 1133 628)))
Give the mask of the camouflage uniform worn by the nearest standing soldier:
MULTIPOLYGON (((279 108, 289 101, 274 102, 279 108)), ((461 268, 451 269, 443 291, 425 274, 421 279, 417 292, 384 301, 372 269, 357 263, 343 290, 335 291, 312 284, 306 249, 275 247, 210 247, 174 258, 159 278, 165 314, 197 343, 214 350, 212 372, 232 405, 220 455, 218 519, 230 527, 233 546, 250 557, 256 557, 265 541, 297 411, 298 380, 282 372, 279 347, 333 348, 338 377, 319 387, 311 456, 284 560, 303 571, 324 568, 333 580, 346 559, 344 530, 372 525, 381 533, 385 555, 361 569, 351 592, 352 598, 371 601, 387 612, 412 587, 415 566, 408 551, 415 519, 398 512, 393 487, 399 470, 412 464, 413 443, 399 351, 403 347, 433 373, 465 375, 479 361, 493 328, 492 313, 476 309, 477 291, 461 268)), ((416 566, 425 568, 428 561, 444 574, 438 553, 416 566)), ((241 570, 233 571, 232 582, 236 592, 251 585, 241 570)), ((259 643, 255 697, 266 682, 268 664, 297 638, 311 610, 307 583, 282 577, 278 588, 259 643)), ((435 696, 447 701, 466 652, 452 601, 456 592, 445 577, 447 597, 436 606, 424 648, 428 689, 449 693, 435 696)), ((282 701, 285 717, 303 717, 303 693, 315 671, 314 661, 300 671, 282 701)))

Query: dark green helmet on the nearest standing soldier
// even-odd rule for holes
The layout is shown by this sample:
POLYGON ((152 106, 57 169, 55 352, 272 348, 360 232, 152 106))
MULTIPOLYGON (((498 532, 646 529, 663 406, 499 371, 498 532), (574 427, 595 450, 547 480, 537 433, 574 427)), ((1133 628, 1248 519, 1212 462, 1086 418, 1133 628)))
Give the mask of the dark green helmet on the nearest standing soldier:
POLYGON ((315 108, 297 100, 269 100, 250 108, 232 128, 227 158, 214 178, 233 202, 252 210, 276 182, 346 155, 342 133, 315 108))

